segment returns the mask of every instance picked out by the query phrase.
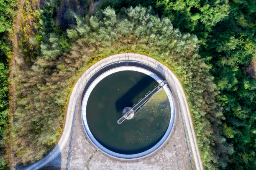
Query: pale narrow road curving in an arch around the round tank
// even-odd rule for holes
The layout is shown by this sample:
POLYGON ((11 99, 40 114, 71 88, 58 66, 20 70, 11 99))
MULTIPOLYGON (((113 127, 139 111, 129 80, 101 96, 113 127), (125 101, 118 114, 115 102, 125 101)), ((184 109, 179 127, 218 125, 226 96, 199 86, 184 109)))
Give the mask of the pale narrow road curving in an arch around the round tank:
POLYGON ((105 65, 108 65, 112 62, 118 62, 120 60, 134 60, 143 62, 147 65, 150 65, 151 67, 154 67, 156 70, 161 72, 168 81, 169 85, 173 87, 177 98, 179 102, 180 112, 184 119, 184 124, 187 129, 188 134, 188 143, 189 147, 191 149, 196 169, 203 169, 202 161, 200 158, 200 152, 197 145, 197 139, 195 135, 195 130, 192 123, 192 118, 189 113, 189 107, 187 103, 186 96, 184 94, 184 91, 182 89, 182 85, 177 79, 177 77, 174 75, 174 73, 169 70, 165 65, 163 65, 161 62, 148 57, 146 55, 136 54, 136 53, 121 53, 116 55, 111 55, 110 57, 106 57, 99 62, 96 62, 94 65, 89 67, 79 78, 77 83, 74 85, 74 88, 72 90, 72 93, 69 98, 69 105, 67 110, 67 118, 64 126, 64 131, 61 135, 61 138, 58 142, 58 144, 54 147, 54 149, 49 153, 44 159, 38 161, 37 163, 32 164, 27 170, 34 170, 39 169, 49 163, 51 160, 54 160, 60 153, 61 150, 64 150, 64 147, 68 144, 70 141, 70 138, 72 138, 72 127, 73 127, 73 120, 74 116, 76 114, 76 108, 78 104, 78 100, 80 97, 80 94, 85 87, 87 80, 90 79, 90 77, 97 72, 101 67, 104 67, 105 65))

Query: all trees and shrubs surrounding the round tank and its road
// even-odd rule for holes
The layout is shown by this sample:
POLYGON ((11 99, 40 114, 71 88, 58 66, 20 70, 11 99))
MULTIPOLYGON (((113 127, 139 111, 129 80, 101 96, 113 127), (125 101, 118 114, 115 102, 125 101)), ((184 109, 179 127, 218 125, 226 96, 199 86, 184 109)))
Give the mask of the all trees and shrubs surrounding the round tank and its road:
MULTIPOLYGON (((6 39, 14 10, 13 0, 4 2, 1 155, 8 126, 11 47, 6 39)), ((12 132, 17 162, 33 163, 54 147, 72 86, 87 67, 130 51, 161 60, 179 77, 206 169, 256 169, 255 9, 253 0, 26 1, 22 53, 15 58, 12 80, 18 95, 12 132)), ((6 166, 3 159, 0 163, 6 166)))

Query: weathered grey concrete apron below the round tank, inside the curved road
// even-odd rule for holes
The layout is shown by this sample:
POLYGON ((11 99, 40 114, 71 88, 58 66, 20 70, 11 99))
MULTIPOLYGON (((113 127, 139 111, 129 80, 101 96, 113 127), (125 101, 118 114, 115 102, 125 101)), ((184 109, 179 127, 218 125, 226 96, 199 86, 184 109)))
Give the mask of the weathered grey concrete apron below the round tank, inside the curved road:
MULTIPOLYGON (((79 116, 79 115, 77 115, 79 116)), ((182 126, 181 117, 178 117, 177 128, 169 143, 161 149, 156 155, 139 160, 137 162, 127 163, 112 160, 99 151, 96 151, 86 140, 81 124, 76 119, 74 132, 74 148, 70 164, 71 170, 189 170, 191 165, 187 150, 186 139, 182 126)), ((66 160, 59 156, 51 163, 47 164, 44 170, 59 168, 66 169, 66 160), (61 163, 59 163, 61 162, 61 163)))

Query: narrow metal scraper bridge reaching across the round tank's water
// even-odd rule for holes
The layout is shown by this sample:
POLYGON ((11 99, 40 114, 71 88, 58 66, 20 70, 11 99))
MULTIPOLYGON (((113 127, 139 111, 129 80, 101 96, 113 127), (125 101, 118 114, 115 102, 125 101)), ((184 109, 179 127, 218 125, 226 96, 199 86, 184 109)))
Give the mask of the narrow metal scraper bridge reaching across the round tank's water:
POLYGON ((161 82, 160 84, 156 85, 156 87, 149 91, 145 97, 141 100, 138 101, 138 103, 136 105, 133 105, 133 107, 131 108, 131 110, 129 110, 127 113, 125 113, 125 115, 123 115, 119 120, 118 120, 118 124, 121 124, 123 121, 125 121, 129 115, 132 115, 134 113, 134 115, 141 110, 141 108, 143 107, 143 105, 146 104, 146 102, 148 102, 148 100, 153 97, 157 92, 159 92, 160 90, 162 90, 162 88, 167 85, 166 81, 161 82))

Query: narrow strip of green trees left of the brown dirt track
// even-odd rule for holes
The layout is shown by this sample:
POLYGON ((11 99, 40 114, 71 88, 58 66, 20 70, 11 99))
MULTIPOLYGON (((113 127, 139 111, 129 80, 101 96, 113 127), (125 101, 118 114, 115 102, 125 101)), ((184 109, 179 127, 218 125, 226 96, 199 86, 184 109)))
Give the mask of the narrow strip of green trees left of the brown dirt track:
POLYGON ((0 170, 7 168, 6 143, 8 141, 8 57, 11 43, 8 33, 12 30, 15 0, 0 1, 0 170))

